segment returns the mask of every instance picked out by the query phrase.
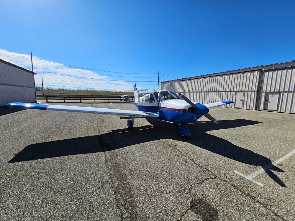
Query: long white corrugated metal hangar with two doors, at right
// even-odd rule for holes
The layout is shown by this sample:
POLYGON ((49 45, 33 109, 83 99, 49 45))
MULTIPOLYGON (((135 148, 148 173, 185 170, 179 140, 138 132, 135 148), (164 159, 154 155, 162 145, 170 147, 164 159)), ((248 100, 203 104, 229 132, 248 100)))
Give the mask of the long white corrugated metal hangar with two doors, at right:
POLYGON ((295 113, 295 60, 161 82, 190 100, 232 100, 230 108, 295 113))

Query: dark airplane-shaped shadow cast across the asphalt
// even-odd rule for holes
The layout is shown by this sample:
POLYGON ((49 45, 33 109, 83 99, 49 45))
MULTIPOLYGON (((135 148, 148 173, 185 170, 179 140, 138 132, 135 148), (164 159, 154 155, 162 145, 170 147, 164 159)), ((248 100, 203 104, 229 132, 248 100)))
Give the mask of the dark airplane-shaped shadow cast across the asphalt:
MULTIPOLYGON (((128 117, 125 119, 128 119, 128 117)), ((212 130, 255 125, 261 123, 259 121, 237 119, 219 121, 218 124, 213 124, 209 121, 199 121, 199 123, 187 125, 192 133, 192 136, 186 140, 183 140, 180 138, 180 136, 178 136, 177 131, 174 129, 172 123, 153 118, 147 118, 147 120, 151 125, 148 124, 141 127, 135 127, 132 131, 124 128, 113 130, 112 132, 104 133, 102 135, 31 144, 25 147, 18 154, 15 154, 15 156, 8 163, 110 151, 149 142, 151 139, 155 138, 157 140, 168 138, 190 143, 196 147, 196 150, 197 148, 202 148, 244 164, 261 167, 272 164, 271 160, 265 156, 232 144, 223 138, 206 133, 207 131, 212 130), (143 136, 142 133, 148 136, 143 136), (136 137, 140 137, 140 139, 136 139, 136 137)), ((245 134, 245 136, 247 135, 245 134)), ((284 171, 276 166, 266 169, 266 173, 277 184, 279 184, 281 187, 286 187, 281 179, 278 178, 271 170, 278 172, 284 171)))

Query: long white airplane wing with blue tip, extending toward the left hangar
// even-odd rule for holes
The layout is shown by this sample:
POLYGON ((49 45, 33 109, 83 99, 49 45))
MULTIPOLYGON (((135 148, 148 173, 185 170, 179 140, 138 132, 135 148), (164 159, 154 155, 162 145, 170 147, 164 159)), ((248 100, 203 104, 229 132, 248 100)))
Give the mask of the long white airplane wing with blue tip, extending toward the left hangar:
POLYGON ((9 108, 23 108, 23 109, 37 109, 37 110, 60 110, 72 112, 85 112, 85 113, 100 113, 100 114, 113 114, 124 116, 137 116, 137 117, 159 117, 156 113, 135 111, 135 110, 119 110, 109 108, 91 108, 79 106, 66 106, 66 105, 51 105, 51 104, 35 104, 35 103, 9 103, 6 104, 9 108))

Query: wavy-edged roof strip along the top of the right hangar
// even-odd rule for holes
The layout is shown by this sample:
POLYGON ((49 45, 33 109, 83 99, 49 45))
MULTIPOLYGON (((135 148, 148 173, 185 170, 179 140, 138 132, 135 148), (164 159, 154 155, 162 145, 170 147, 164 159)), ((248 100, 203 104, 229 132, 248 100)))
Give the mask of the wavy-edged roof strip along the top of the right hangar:
MULTIPOLYGON (((281 69, 281 68, 291 68, 295 66, 295 60, 292 61, 287 61, 287 62, 281 62, 281 63, 275 63, 275 64, 270 64, 270 65, 260 65, 256 67, 248 67, 248 68, 243 68, 243 69, 237 69, 237 70, 232 70, 232 71, 224 71, 224 72, 218 72, 218 73, 213 73, 213 74, 207 74, 207 75, 199 75, 199 76, 194 76, 194 77, 185 77, 185 78, 179 78, 179 79, 174 79, 174 80, 191 80, 191 79, 196 79, 196 78, 204 78, 204 77, 213 77, 217 75, 227 75, 227 74, 234 74, 234 73, 239 73, 239 72, 248 72, 248 71, 253 71, 253 70, 274 70, 274 69, 281 69)), ((162 82, 168 82, 168 81, 173 81, 173 80, 166 80, 166 81, 161 81, 162 82)))

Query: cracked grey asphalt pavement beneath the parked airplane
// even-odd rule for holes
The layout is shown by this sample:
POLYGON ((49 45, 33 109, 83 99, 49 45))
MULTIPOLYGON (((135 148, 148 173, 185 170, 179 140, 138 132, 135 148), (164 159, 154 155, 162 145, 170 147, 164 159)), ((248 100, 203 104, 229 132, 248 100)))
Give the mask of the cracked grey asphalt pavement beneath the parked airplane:
MULTIPOLYGON (((61 104, 64 105, 64 104, 61 104)), ((133 105, 71 103, 135 110, 133 105)), ((213 108, 173 125, 0 108, 0 220, 294 220, 294 114, 213 108)))

